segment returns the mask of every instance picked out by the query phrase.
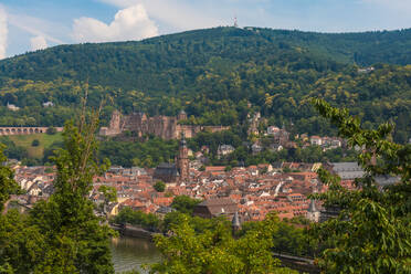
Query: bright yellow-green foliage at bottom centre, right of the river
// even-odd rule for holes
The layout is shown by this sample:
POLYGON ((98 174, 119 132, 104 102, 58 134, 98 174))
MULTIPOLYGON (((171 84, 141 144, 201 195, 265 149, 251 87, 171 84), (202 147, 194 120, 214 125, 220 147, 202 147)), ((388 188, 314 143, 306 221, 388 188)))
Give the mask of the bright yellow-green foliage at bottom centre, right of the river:
POLYGON ((151 273, 296 273, 280 268, 280 261, 272 255, 277 222, 277 218, 268 215, 235 240, 224 222, 196 232, 182 214, 181 222, 172 225, 170 238, 155 236, 165 260, 152 265, 151 273))

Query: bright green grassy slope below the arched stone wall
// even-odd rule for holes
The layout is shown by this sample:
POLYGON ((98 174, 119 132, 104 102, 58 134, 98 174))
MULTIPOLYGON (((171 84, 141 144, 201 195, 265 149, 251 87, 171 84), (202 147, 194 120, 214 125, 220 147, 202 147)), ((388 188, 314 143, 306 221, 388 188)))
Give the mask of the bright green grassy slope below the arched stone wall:
POLYGON ((33 134, 33 135, 9 135, 10 140, 12 140, 17 146, 24 147, 29 156, 32 158, 41 159, 43 158, 44 149, 51 147, 55 141, 62 141, 63 136, 61 133, 55 135, 49 134, 33 134), (33 147, 31 144, 34 139, 40 141, 40 145, 33 147))

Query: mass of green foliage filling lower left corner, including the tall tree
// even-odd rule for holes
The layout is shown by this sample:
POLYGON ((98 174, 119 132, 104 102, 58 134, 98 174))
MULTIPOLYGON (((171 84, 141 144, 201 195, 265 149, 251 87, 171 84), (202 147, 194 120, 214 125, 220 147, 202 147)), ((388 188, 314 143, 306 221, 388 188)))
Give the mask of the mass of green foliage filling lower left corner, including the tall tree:
MULTIPOLYGON (((12 210, 0 214, 0 270, 2 273, 114 273, 109 239, 114 232, 101 224, 88 199, 93 177, 105 170, 95 158, 97 120, 77 127, 67 123, 64 147, 54 156, 57 179, 48 201, 28 214, 12 210)), ((2 162, 6 158, 1 155, 2 162)), ((17 190, 12 172, 0 166, 1 208, 17 190)))

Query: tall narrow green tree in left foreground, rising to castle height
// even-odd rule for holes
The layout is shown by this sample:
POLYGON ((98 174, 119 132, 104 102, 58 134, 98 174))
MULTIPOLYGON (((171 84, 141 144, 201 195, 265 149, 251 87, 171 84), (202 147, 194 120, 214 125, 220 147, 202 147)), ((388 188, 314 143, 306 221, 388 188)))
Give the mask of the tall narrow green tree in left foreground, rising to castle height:
POLYGON ((52 158, 57 168, 54 193, 29 215, 46 246, 34 273, 114 273, 109 251, 114 232, 101 224, 88 199, 93 177, 108 165, 94 160, 97 125, 96 118, 87 124, 82 117, 78 127, 70 122, 64 128, 64 149, 52 158))

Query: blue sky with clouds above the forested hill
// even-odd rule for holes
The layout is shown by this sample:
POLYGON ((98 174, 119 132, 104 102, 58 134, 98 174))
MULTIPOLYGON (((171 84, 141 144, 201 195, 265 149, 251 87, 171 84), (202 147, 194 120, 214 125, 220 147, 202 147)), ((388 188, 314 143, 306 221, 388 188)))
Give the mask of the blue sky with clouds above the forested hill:
POLYGON ((318 32, 411 28, 411 0, 0 0, 0 60, 59 44, 219 25, 318 32))

